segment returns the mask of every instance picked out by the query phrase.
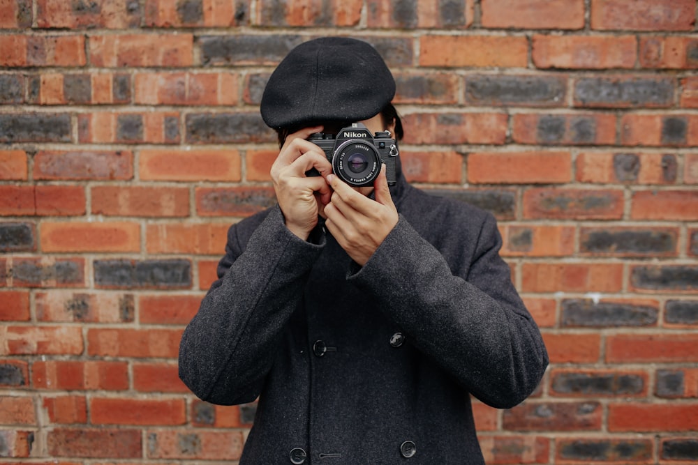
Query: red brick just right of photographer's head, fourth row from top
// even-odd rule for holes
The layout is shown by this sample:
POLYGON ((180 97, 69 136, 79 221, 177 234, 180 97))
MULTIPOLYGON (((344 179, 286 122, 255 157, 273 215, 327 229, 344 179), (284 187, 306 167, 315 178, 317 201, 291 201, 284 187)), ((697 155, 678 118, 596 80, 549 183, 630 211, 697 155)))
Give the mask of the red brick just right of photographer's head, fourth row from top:
POLYGON ((406 144, 504 144, 505 113, 416 113, 403 116, 406 144))

